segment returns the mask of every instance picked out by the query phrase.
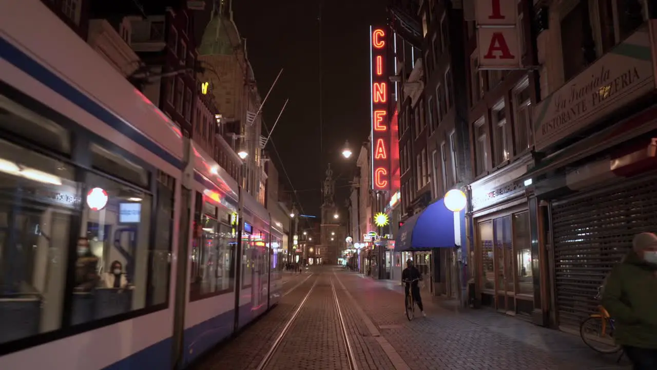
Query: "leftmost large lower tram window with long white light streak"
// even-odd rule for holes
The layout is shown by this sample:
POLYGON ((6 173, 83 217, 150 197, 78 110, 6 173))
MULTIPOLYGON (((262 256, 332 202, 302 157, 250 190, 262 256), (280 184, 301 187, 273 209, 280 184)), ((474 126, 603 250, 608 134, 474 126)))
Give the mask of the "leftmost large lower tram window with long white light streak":
POLYGON ((61 326, 74 169, 0 140, 0 343, 61 326))

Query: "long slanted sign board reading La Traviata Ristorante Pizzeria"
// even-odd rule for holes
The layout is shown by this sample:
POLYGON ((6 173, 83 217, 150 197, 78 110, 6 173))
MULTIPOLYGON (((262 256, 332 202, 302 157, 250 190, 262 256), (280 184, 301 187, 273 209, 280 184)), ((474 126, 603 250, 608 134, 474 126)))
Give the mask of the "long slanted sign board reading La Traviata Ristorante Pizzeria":
POLYGON ((548 95, 533 111, 535 149, 541 151, 655 89, 648 27, 548 95))

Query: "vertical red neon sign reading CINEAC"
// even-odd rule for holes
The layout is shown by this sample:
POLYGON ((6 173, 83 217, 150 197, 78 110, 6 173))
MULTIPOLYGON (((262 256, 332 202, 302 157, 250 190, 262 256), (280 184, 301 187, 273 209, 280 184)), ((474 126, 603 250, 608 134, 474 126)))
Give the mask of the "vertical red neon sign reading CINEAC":
POLYGON ((390 117, 386 73, 386 29, 370 26, 370 104, 372 109, 372 188, 390 190, 390 117))

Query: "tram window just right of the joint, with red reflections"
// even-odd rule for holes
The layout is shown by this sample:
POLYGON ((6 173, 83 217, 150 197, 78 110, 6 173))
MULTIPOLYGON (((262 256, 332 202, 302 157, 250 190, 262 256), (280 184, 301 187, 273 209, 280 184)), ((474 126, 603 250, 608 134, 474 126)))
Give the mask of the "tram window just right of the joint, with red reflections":
POLYGON ((235 286, 231 213, 199 192, 196 192, 196 209, 190 300, 230 292, 235 286))

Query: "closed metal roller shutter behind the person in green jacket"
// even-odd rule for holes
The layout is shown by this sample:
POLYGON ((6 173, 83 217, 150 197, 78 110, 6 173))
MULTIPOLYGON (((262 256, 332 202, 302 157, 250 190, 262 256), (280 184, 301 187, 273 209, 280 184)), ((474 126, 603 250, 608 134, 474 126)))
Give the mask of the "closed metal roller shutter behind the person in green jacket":
POLYGON ((580 192, 552 203, 558 322, 579 327, 597 288, 639 232, 657 231, 657 176, 580 192))

